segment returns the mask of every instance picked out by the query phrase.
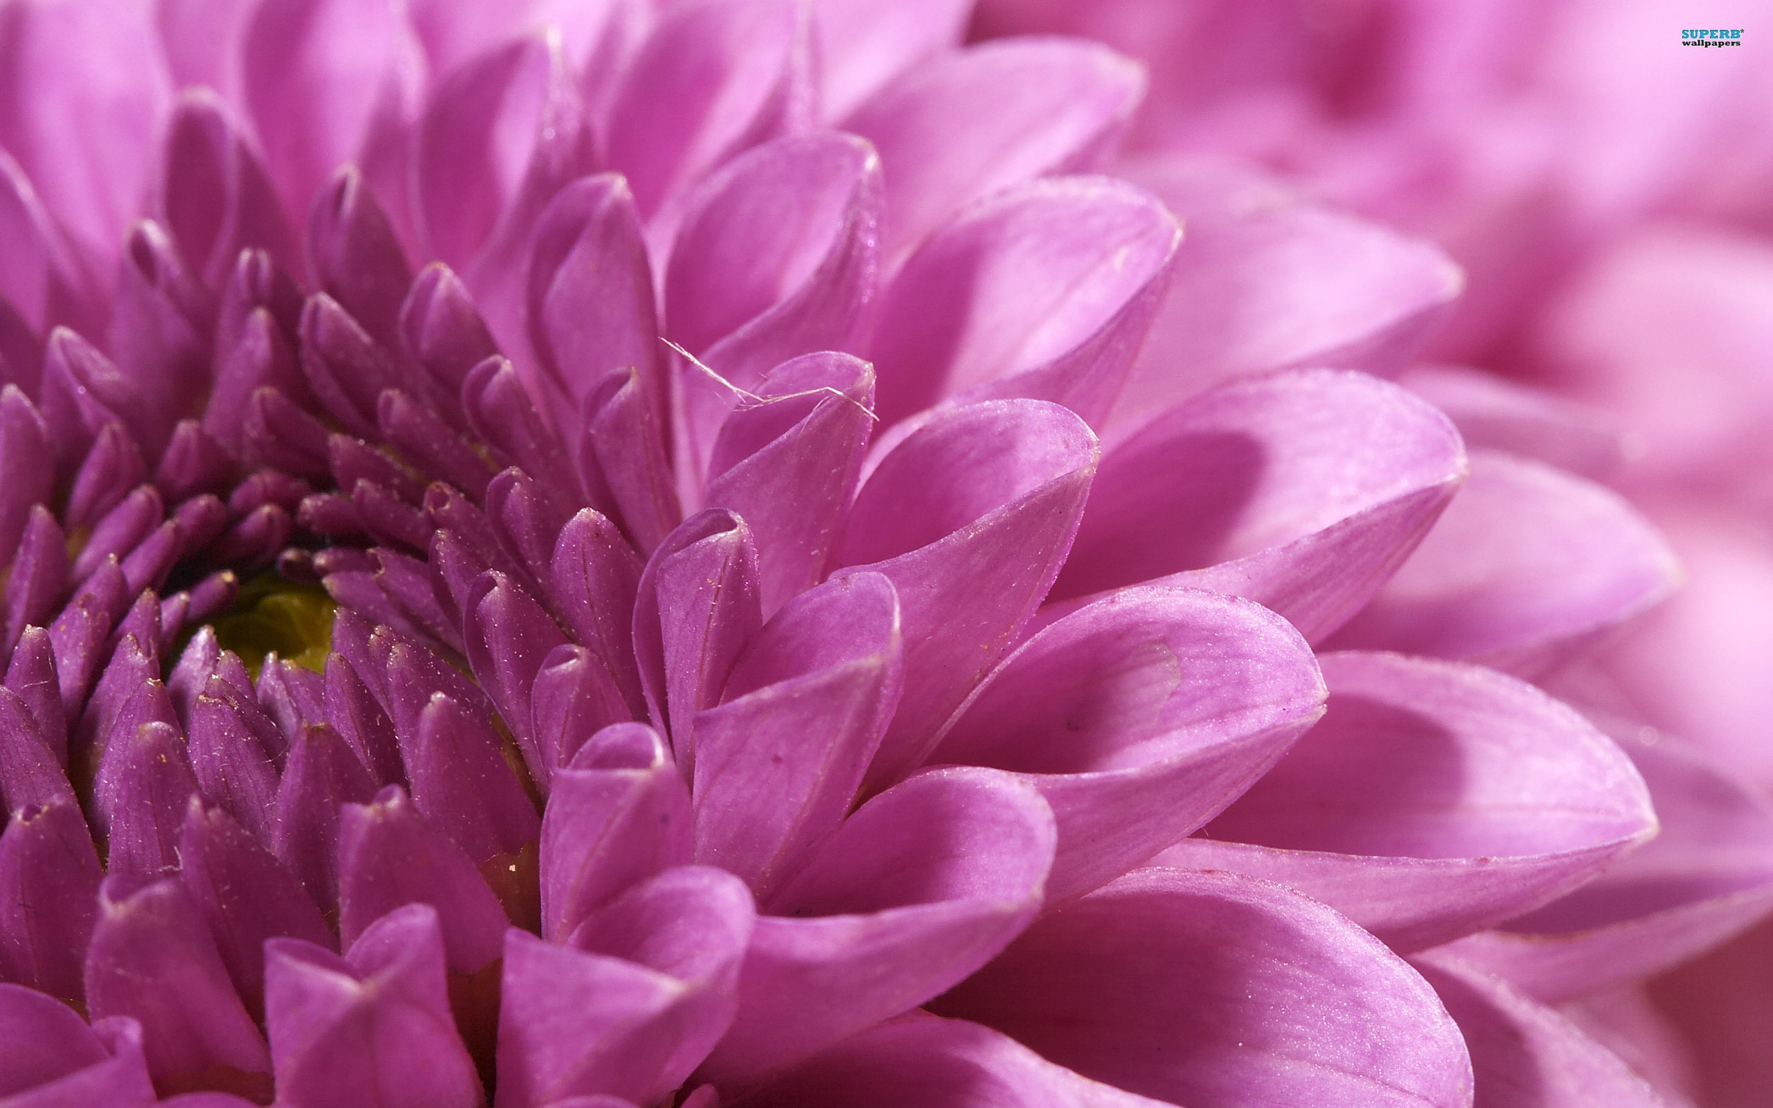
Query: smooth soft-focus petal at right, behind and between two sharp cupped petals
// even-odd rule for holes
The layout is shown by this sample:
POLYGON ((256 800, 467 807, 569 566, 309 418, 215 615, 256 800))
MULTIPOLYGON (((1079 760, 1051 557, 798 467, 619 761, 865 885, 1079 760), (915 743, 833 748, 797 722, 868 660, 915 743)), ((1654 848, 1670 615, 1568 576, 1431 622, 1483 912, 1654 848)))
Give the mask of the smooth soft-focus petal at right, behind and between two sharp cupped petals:
POLYGON ((1475 450, 1461 495, 1330 645, 1468 658, 1534 675, 1679 580, 1674 551, 1619 495, 1475 450))

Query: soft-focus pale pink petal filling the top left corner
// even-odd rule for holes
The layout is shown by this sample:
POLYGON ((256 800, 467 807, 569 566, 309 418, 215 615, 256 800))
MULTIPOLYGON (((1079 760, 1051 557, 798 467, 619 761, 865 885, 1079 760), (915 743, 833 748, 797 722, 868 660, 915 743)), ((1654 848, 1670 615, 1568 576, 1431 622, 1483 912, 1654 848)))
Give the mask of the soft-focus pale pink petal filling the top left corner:
POLYGON ((69 238, 110 262, 140 211, 170 99, 145 11, 9 4, 0 57, 0 145, 69 238))

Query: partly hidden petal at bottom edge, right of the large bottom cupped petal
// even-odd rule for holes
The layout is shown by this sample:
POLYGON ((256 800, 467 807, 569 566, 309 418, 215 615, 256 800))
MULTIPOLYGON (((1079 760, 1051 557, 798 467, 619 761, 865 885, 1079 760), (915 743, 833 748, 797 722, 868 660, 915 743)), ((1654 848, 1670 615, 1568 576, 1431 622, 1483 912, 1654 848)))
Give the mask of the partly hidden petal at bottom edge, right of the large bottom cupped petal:
POLYGON ((1484 1108, 1667 1108, 1619 1055, 1551 1009, 1456 957, 1411 961, 1459 1023, 1484 1108))

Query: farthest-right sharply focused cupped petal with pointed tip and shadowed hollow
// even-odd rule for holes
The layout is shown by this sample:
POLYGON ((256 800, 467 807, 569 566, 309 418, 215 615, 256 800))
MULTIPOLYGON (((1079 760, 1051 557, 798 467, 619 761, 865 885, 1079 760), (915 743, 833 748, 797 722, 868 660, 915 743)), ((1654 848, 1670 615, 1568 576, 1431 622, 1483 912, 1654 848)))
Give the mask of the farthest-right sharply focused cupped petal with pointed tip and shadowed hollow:
POLYGON ((1326 654, 1330 711, 1167 865, 1280 881, 1399 950, 1537 908, 1656 831, 1631 761, 1475 667, 1326 654))

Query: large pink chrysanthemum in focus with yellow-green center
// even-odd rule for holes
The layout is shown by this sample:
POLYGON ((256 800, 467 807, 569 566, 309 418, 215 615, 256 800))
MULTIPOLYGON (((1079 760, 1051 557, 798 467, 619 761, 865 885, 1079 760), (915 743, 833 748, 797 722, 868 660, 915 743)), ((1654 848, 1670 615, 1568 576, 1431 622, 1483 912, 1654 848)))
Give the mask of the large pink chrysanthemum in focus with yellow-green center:
POLYGON ((0 12, 0 1104, 1638 1096, 1440 947, 1674 569, 1360 372, 1433 248, 957 4, 0 12))

